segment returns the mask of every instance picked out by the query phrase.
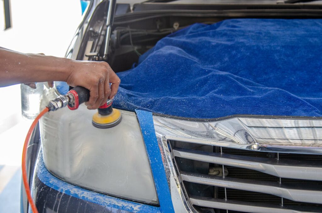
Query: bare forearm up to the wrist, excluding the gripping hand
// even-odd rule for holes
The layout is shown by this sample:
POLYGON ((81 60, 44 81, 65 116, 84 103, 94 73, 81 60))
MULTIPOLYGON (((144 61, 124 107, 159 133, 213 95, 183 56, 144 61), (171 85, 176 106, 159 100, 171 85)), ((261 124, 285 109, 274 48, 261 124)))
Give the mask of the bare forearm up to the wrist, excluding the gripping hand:
POLYGON ((0 87, 18 83, 66 81, 72 60, 24 54, 0 47, 0 87))

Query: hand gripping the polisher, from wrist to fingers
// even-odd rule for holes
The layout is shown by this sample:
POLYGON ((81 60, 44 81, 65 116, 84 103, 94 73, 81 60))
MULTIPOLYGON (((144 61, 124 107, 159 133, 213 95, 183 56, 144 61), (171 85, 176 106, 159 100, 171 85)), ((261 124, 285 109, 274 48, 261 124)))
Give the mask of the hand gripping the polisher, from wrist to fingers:
POLYGON ((85 105, 88 109, 97 109, 108 98, 114 98, 121 80, 104 61, 72 61, 66 82, 72 87, 82 86, 90 90, 90 99, 85 105))

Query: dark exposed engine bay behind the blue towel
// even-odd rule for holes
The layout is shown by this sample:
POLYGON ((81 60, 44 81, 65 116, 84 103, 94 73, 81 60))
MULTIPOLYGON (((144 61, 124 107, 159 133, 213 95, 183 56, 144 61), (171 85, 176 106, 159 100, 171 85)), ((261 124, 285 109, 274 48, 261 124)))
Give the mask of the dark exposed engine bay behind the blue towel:
MULTIPOLYGON (((275 3, 275 2, 274 2, 275 3)), ((105 60, 115 72, 132 68, 139 56, 163 37, 194 23, 213 24, 232 18, 320 18, 320 5, 243 4, 117 4, 109 44, 103 59, 108 2, 100 3, 88 23, 77 60, 105 60)))

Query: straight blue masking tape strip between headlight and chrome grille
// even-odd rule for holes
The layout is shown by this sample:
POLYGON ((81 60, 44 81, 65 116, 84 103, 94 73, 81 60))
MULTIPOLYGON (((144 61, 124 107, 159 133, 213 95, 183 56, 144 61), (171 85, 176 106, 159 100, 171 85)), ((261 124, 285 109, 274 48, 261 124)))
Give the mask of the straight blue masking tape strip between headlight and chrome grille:
POLYGON ((156 192, 161 211, 166 213, 174 212, 170 189, 166 179, 166 172, 162 162, 160 148, 156 140, 152 113, 142 110, 136 110, 135 112, 137 114, 143 140, 147 148, 147 155, 150 161, 154 182, 156 184, 156 192))

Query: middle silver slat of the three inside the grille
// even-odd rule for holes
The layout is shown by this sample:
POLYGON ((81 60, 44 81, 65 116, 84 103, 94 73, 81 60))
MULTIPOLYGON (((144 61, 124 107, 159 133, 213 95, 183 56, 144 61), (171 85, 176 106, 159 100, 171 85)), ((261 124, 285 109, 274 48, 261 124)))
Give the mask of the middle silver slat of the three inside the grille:
POLYGON ((254 181, 228 177, 223 178, 190 172, 181 172, 181 178, 184 181, 193 183, 272 194, 298 202, 322 203, 322 189, 319 186, 314 188, 311 187, 311 189, 308 190, 308 187, 301 188, 294 184, 280 185, 278 182, 254 181))

